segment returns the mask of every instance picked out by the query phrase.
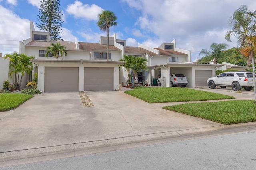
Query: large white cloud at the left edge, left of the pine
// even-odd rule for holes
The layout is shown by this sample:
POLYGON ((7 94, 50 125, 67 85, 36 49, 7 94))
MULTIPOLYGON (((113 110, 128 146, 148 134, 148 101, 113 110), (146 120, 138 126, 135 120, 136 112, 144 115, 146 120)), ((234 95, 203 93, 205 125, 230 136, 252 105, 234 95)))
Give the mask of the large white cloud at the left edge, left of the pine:
POLYGON ((0 39, 9 40, 1 41, 0 51, 4 54, 19 52, 19 41, 27 39, 30 29, 30 21, 21 19, 12 11, 0 5, 0 39))

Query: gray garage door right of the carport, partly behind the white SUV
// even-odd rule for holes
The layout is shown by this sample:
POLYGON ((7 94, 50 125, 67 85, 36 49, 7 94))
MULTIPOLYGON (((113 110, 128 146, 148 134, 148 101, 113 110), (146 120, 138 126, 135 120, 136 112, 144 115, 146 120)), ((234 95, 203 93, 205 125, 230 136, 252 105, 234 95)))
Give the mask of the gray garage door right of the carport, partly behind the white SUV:
POLYGON ((212 70, 195 70, 196 73, 196 87, 208 86, 207 79, 212 77, 212 70))

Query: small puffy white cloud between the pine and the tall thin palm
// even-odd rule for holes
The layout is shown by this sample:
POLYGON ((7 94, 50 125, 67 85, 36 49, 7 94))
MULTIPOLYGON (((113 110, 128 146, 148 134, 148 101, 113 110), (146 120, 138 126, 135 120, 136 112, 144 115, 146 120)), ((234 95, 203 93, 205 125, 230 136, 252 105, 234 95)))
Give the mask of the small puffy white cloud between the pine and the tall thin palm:
POLYGON ((97 20, 98 14, 100 14, 103 9, 95 4, 90 6, 89 4, 83 4, 82 2, 76 0, 74 4, 67 6, 66 11, 68 14, 73 14, 76 18, 97 20))

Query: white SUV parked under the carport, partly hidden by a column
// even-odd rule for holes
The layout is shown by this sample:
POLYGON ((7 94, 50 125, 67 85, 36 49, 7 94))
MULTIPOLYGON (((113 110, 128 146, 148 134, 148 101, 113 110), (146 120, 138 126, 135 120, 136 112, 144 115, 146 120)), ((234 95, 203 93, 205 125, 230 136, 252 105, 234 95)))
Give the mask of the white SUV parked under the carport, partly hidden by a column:
MULTIPOLYGON (((171 74, 170 75, 171 78, 171 84, 170 86, 182 86, 182 87, 186 87, 186 85, 188 84, 187 78, 184 74, 171 74)), ((158 78, 157 79, 157 85, 161 86, 162 84, 162 78, 158 78)))

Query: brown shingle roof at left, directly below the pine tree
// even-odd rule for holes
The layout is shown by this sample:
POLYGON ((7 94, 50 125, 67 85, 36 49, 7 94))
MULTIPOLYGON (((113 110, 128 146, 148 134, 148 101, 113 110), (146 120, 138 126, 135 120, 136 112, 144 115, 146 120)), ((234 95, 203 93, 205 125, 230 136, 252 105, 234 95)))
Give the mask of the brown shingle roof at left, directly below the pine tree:
POLYGON ((25 46, 30 46, 30 47, 49 47, 51 46, 51 43, 60 43, 61 45, 64 45, 66 47, 66 50, 69 51, 75 51, 76 50, 76 44, 75 42, 72 41, 31 41, 25 46))

